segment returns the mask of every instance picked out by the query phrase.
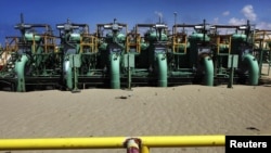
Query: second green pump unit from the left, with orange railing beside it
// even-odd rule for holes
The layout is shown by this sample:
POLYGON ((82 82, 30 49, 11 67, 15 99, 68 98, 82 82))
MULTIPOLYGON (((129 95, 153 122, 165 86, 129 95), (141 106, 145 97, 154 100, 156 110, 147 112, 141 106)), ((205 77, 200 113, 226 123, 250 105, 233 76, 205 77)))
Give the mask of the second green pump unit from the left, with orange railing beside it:
POLYGON ((96 75, 96 38, 89 34, 88 24, 57 24, 62 61, 61 85, 65 90, 79 91, 96 75))

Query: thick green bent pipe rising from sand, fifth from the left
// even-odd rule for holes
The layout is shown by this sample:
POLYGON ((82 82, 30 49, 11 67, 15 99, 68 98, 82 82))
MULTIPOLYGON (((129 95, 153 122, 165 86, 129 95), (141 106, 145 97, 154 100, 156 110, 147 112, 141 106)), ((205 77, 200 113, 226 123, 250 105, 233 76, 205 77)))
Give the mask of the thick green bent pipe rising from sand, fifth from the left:
POLYGON ((214 86, 214 63, 210 56, 203 58, 205 66, 204 85, 214 86))

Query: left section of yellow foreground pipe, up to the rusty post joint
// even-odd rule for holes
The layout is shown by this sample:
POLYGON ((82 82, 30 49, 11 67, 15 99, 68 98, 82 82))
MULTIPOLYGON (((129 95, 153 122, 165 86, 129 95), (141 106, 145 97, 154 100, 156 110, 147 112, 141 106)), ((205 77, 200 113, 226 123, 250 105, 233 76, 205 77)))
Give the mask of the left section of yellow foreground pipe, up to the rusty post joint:
POLYGON ((1 139, 0 150, 113 149, 122 148, 124 137, 1 139))

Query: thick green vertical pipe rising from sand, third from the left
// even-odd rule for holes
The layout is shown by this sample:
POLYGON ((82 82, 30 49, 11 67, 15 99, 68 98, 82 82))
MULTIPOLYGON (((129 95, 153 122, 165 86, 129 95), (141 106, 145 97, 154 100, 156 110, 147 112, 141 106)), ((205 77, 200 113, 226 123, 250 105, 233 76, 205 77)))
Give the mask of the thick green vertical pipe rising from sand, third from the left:
POLYGON ((120 55, 111 54, 111 88, 112 89, 120 89, 120 75, 119 75, 119 62, 120 55))

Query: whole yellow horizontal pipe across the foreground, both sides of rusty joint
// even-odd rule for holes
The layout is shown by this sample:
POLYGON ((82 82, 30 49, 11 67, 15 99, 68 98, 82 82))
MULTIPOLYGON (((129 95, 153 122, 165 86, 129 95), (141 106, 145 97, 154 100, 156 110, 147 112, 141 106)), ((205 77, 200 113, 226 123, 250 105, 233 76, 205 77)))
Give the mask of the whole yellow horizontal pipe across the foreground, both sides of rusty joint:
POLYGON ((120 149, 131 138, 141 141, 142 153, 149 153, 150 148, 224 146, 225 143, 225 136, 0 139, 0 150, 120 149))

